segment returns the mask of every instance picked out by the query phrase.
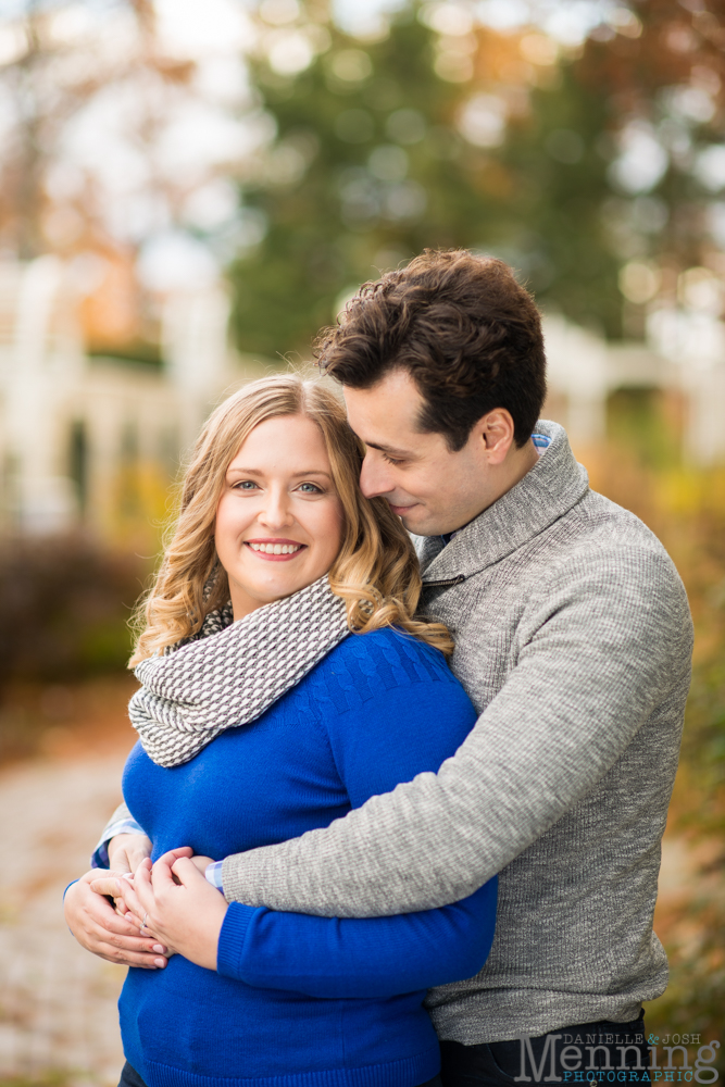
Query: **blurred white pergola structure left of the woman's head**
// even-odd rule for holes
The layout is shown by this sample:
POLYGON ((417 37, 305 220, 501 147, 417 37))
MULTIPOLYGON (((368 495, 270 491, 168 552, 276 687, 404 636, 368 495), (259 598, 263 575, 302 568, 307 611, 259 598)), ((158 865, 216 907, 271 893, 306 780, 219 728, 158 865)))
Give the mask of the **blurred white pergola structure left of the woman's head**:
POLYGON ((221 396, 265 367, 227 346, 221 285, 171 296, 154 370, 89 358, 54 257, 0 265, 0 470, 5 530, 112 532, 130 466, 167 487, 221 396), (140 466, 140 467, 139 467, 140 466))

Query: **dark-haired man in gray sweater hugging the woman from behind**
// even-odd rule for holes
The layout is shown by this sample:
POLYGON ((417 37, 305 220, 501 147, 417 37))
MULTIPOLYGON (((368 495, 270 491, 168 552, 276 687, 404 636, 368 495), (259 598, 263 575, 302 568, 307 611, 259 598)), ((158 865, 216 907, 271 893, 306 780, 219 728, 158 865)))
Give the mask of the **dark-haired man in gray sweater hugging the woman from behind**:
POLYGON ((366 446, 363 491, 418 537, 424 607, 480 716, 438 774, 227 858, 224 892, 368 917, 498 872, 488 962, 428 997, 443 1082, 648 1078, 640 1008, 667 978, 652 913, 691 653, 676 571, 589 490, 563 429, 537 424, 539 315, 500 261, 426 252, 362 288, 318 355, 366 446))

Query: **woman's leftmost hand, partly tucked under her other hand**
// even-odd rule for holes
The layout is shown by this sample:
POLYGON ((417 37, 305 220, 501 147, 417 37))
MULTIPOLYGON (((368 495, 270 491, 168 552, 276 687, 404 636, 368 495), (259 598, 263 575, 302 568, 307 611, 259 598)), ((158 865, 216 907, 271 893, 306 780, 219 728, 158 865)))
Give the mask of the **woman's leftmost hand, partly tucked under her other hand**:
MULTIPOLYGON (((90 885, 98 876, 99 870, 91 869, 65 894, 65 922, 78 944, 108 962, 162 970, 166 965, 166 947, 153 937, 141 936, 137 926, 118 916, 102 895, 91 890, 90 885)), ((112 879, 122 876, 121 872, 110 873, 112 879)), ((222 897, 213 887, 209 889, 222 897)))

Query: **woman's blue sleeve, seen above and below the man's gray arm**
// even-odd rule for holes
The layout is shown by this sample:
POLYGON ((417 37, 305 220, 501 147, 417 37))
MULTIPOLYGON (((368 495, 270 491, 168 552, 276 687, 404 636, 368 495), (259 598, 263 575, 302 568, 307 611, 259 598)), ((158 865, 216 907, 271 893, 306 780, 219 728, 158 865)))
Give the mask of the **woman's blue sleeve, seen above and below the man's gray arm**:
MULTIPOLYGON (((398 635, 373 637, 378 649, 398 648, 414 667, 416 654, 408 657, 398 635)), ((340 689, 346 683, 341 672, 352 682, 357 673, 362 675, 355 667, 355 645, 346 648, 343 667, 336 666, 329 676, 341 683, 340 689)), ((363 658, 363 667, 365 662, 363 658)), ((437 769, 476 720, 463 688, 437 658, 434 675, 418 674, 411 683, 401 669, 395 686, 391 677, 392 672, 385 684, 379 675, 368 675, 377 697, 347 712, 333 712, 330 705, 320 716, 353 807, 401 778, 437 769)), ((493 940, 497 886, 493 878, 464 901, 440 910, 365 920, 305 916, 234 902, 220 935, 217 970, 248 985, 313 997, 389 997, 458 982, 477 974, 486 961, 493 940)))

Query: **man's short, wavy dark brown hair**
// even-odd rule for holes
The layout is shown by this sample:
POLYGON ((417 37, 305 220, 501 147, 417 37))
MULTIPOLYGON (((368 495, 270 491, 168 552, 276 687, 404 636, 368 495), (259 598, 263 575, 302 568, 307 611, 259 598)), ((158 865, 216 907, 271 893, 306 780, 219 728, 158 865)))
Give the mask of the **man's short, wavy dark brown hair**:
POLYGON ((532 436, 546 397, 541 320, 503 261, 466 250, 426 249, 410 264, 366 283, 339 323, 315 343, 321 367, 342 385, 368 389, 408 371, 424 401, 418 426, 463 448, 496 408, 532 436))

